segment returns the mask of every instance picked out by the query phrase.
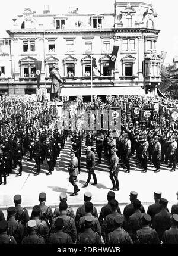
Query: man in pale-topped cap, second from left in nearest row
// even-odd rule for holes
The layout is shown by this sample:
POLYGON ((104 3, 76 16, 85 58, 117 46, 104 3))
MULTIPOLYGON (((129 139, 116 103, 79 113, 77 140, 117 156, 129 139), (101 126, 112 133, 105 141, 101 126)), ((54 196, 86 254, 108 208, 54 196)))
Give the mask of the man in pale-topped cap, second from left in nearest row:
POLYGON ((41 245, 45 244, 44 239, 36 234, 36 220, 29 220, 27 223, 28 236, 23 239, 23 245, 41 245))

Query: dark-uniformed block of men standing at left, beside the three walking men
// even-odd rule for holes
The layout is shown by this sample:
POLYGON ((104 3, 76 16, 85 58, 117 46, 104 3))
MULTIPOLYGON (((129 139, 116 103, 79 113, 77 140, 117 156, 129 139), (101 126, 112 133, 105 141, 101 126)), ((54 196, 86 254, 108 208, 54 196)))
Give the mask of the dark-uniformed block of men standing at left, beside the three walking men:
POLYGON ((39 175, 41 164, 46 158, 49 166, 46 175, 52 174, 56 166, 56 160, 65 144, 65 134, 55 128, 46 129, 46 126, 33 131, 27 127, 15 129, 10 135, 0 136, 0 185, 2 177, 4 185, 7 183, 6 177, 12 172, 12 169, 18 167, 16 176, 23 174, 23 155, 29 151, 30 157, 27 161, 35 160, 36 170, 34 175, 39 175))

